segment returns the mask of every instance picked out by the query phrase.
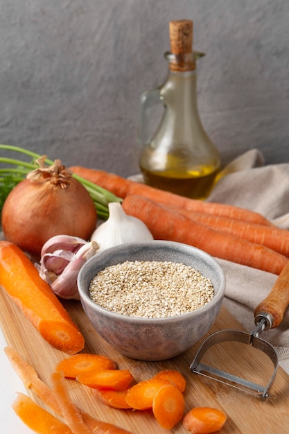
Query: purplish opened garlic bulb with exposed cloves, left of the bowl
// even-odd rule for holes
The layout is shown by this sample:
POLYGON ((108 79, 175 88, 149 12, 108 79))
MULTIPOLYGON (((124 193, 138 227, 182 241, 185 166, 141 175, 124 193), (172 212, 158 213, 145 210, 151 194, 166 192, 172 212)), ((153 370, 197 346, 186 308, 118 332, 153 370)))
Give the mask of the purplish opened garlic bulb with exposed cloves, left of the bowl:
POLYGON ((82 240, 69 235, 56 235, 42 248, 39 270, 55 295, 64 299, 80 300, 77 278, 80 268, 98 250, 96 241, 82 240))

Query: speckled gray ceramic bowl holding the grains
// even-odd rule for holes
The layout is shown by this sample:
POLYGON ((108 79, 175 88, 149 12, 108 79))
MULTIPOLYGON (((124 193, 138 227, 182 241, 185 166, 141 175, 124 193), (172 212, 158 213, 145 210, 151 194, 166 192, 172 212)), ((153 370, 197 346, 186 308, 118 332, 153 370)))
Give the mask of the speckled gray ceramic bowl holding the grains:
POLYGON ((128 243, 96 254, 78 274, 82 307, 99 335, 125 356, 161 361, 182 354, 215 322, 225 294, 225 274, 202 250, 170 241, 128 243), (113 313, 89 297, 91 279, 103 268, 124 261, 173 261, 199 270, 213 282, 215 295, 205 306, 170 318, 137 318, 113 313))

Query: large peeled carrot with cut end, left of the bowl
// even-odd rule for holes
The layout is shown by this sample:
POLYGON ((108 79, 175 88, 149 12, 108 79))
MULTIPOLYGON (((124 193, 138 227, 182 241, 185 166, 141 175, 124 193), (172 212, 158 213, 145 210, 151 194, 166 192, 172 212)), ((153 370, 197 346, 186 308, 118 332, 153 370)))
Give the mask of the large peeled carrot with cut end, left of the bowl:
POLYGON ((0 285, 53 347, 75 354, 85 340, 53 290, 16 245, 0 241, 0 285))

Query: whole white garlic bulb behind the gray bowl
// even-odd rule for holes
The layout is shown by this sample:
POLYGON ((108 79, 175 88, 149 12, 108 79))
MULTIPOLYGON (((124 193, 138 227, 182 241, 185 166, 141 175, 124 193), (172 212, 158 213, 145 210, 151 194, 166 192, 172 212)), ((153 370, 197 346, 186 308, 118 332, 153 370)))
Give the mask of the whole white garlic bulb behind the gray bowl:
POLYGON ((109 203, 108 209, 109 218, 96 228, 90 238, 98 243, 98 252, 123 243, 153 240, 148 227, 139 218, 125 214, 119 202, 109 203))

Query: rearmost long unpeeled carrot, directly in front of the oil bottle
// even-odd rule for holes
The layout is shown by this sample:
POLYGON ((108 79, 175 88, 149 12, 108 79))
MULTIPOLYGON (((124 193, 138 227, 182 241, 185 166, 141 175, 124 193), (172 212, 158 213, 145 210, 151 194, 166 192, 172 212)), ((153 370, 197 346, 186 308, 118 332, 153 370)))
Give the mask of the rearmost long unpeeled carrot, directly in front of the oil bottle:
POLYGON ((247 222, 259 223, 261 225, 272 225, 270 221, 261 214, 249 211, 249 209, 236 207, 234 205, 203 202, 202 200, 185 198, 184 196, 179 196, 175 193, 170 193, 169 191, 155 189, 146 184, 127 180, 119 175, 114 175, 114 173, 97 171, 82 166, 72 166, 70 169, 76 175, 83 177, 94 184, 98 184, 98 186, 111 191, 116 196, 119 196, 119 198, 124 199, 127 196, 140 195, 155 200, 163 205, 175 205, 184 209, 191 209, 192 211, 216 214, 216 216, 236 218, 247 222))

